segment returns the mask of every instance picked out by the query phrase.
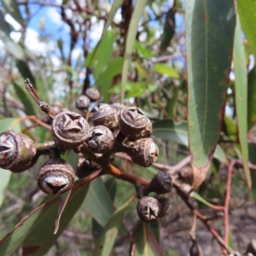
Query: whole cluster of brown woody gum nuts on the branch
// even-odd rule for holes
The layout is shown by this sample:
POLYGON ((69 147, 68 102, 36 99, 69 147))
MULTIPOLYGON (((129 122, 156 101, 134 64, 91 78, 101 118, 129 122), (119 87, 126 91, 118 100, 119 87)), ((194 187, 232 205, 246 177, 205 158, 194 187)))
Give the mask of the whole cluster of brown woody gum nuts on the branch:
MULTIPOLYGON (((83 112, 100 97, 94 88, 86 90, 85 94, 76 102, 77 108, 83 112)), ((37 162, 39 155, 48 154, 49 160, 38 172, 38 187, 46 194, 59 195, 73 187, 76 176, 73 167, 61 159, 59 152, 63 150, 78 152, 79 147, 86 147, 105 159, 116 152, 125 152, 134 163, 143 167, 151 166, 157 159, 159 150, 150 138, 152 124, 140 108, 102 103, 96 107, 90 120, 95 126, 90 127, 79 113, 57 113, 51 123, 54 142, 43 146, 20 132, 3 131, 0 133, 0 167, 15 173, 23 172, 37 162)), ((80 158, 77 176, 86 177, 99 167, 91 160, 80 158)), ((155 175, 138 201, 138 216, 147 222, 163 217, 170 209, 169 201, 165 197, 148 196, 148 192, 166 194, 171 189, 171 177, 165 172, 155 175)))

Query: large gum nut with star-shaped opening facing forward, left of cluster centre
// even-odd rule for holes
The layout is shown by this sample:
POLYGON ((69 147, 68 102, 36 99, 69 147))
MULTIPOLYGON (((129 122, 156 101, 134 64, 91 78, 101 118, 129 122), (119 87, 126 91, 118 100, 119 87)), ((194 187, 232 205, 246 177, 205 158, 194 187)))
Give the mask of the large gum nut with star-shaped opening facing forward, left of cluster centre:
POLYGON ((55 143, 64 149, 77 148, 84 143, 89 131, 89 124, 79 113, 61 112, 52 122, 55 143))

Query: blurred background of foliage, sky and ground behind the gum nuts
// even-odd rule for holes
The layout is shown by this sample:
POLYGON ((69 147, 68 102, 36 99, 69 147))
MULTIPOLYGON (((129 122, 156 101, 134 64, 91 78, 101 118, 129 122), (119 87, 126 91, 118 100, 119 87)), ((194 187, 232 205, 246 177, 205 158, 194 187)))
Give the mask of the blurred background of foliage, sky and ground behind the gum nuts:
MULTIPOLYGON (((253 0, 236 2, 241 20, 238 32, 241 44, 238 44, 237 51, 234 50, 237 54, 234 58, 244 58, 244 66, 238 67, 238 62, 232 62, 224 121, 216 131, 219 135, 218 148, 206 181, 191 201, 204 214, 217 216, 211 204, 224 205, 228 165, 230 160, 236 160, 230 187, 229 245, 244 252, 256 228, 256 166, 253 165, 256 164, 256 36, 255 29, 252 29, 256 24, 253 15, 256 3, 253 0), (239 78, 241 80, 237 83, 239 78), (239 96, 244 95, 246 98, 242 98, 239 104, 239 96), (251 177, 250 189, 247 184, 251 177)), ((49 122, 25 90, 24 79, 29 78, 38 95, 52 107, 61 106, 79 112, 75 108, 75 100, 90 86, 100 90, 102 102, 136 105, 154 123, 154 141, 160 148, 158 163, 174 166, 189 154, 184 1, 2 0, 0 8, 1 131, 11 127, 26 133, 37 143, 52 139, 50 131, 26 119, 26 116, 35 115, 49 122)), ((214 93, 211 97, 214 103, 214 93)), ((211 125, 210 121, 207 124, 211 125)), ((72 159, 73 155, 67 153, 63 158, 72 159)), ((1 237, 6 236, 44 199, 36 185, 38 169, 44 160, 46 157, 40 158, 32 169, 22 174, 10 175, 8 171, 1 170, 1 237)), ((150 178, 158 172, 154 166, 145 170, 121 158, 116 158, 116 163, 123 166, 125 172, 138 177, 150 178)), ((39 224, 34 223, 34 229, 27 228, 25 240, 17 238, 13 246, 14 255, 44 255, 49 248, 47 255, 92 255, 100 230, 111 219, 115 209, 122 207, 134 192, 131 183, 113 177, 96 179, 90 183, 88 191, 79 191, 84 200, 79 201, 74 195, 74 201, 79 201, 79 209, 70 210, 72 220, 63 226, 58 239, 57 235, 48 238, 45 235, 40 253, 24 249, 32 247, 30 240, 33 236, 40 239, 42 234, 53 231, 47 219, 43 218, 39 224), (107 209, 106 216, 98 214, 101 207, 107 209)), ((170 199, 170 215, 161 219, 159 226, 151 224, 150 229, 156 241, 160 241, 165 255, 187 255, 191 246, 188 235, 191 213, 175 191, 170 194, 170 199)), ((136 204, 132 201, 125 212, 111 255, 128 255, 136 225, 148 234, 147 228, 137 224, 136 204)), ((55 219, 55 214, 49 218, 55 219)), ((223 236, 223 218, 217 216, 211 224, 223 236)), ((220 255, 216 241, 201 224, 198 224, 197 236, 206 255, 220 255)), ((134 237, 137 241, 143 239, 134 237)), ((150 247, 150 241, 148 238, 152 253, 154 249, 150 247)), ((2 244, 4 242, 6 239, 2 244)), ((0 244, 0 252, 5 253, 1 255, 9 255, 5 250, 6 247, 0 244)))

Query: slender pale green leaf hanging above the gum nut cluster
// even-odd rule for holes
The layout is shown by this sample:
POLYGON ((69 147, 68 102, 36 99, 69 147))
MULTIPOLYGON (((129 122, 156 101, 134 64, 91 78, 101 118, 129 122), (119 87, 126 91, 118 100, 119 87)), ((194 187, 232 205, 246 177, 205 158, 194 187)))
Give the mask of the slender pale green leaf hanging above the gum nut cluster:
POLYGON ((122 81, 121 81, 121 102, 124 102, 125 97, 125 84, 127 82, 127 74, 131 60, 131 53, 133 49, 133 44, 137 35, 137 26, 141 15, 143 14, 144 8, 148 0, 139 0, 136 2, 135 8, 131 15, 131 21, 127 33, 127 38, 125 42, 125 61, 122 71, 122 81))

